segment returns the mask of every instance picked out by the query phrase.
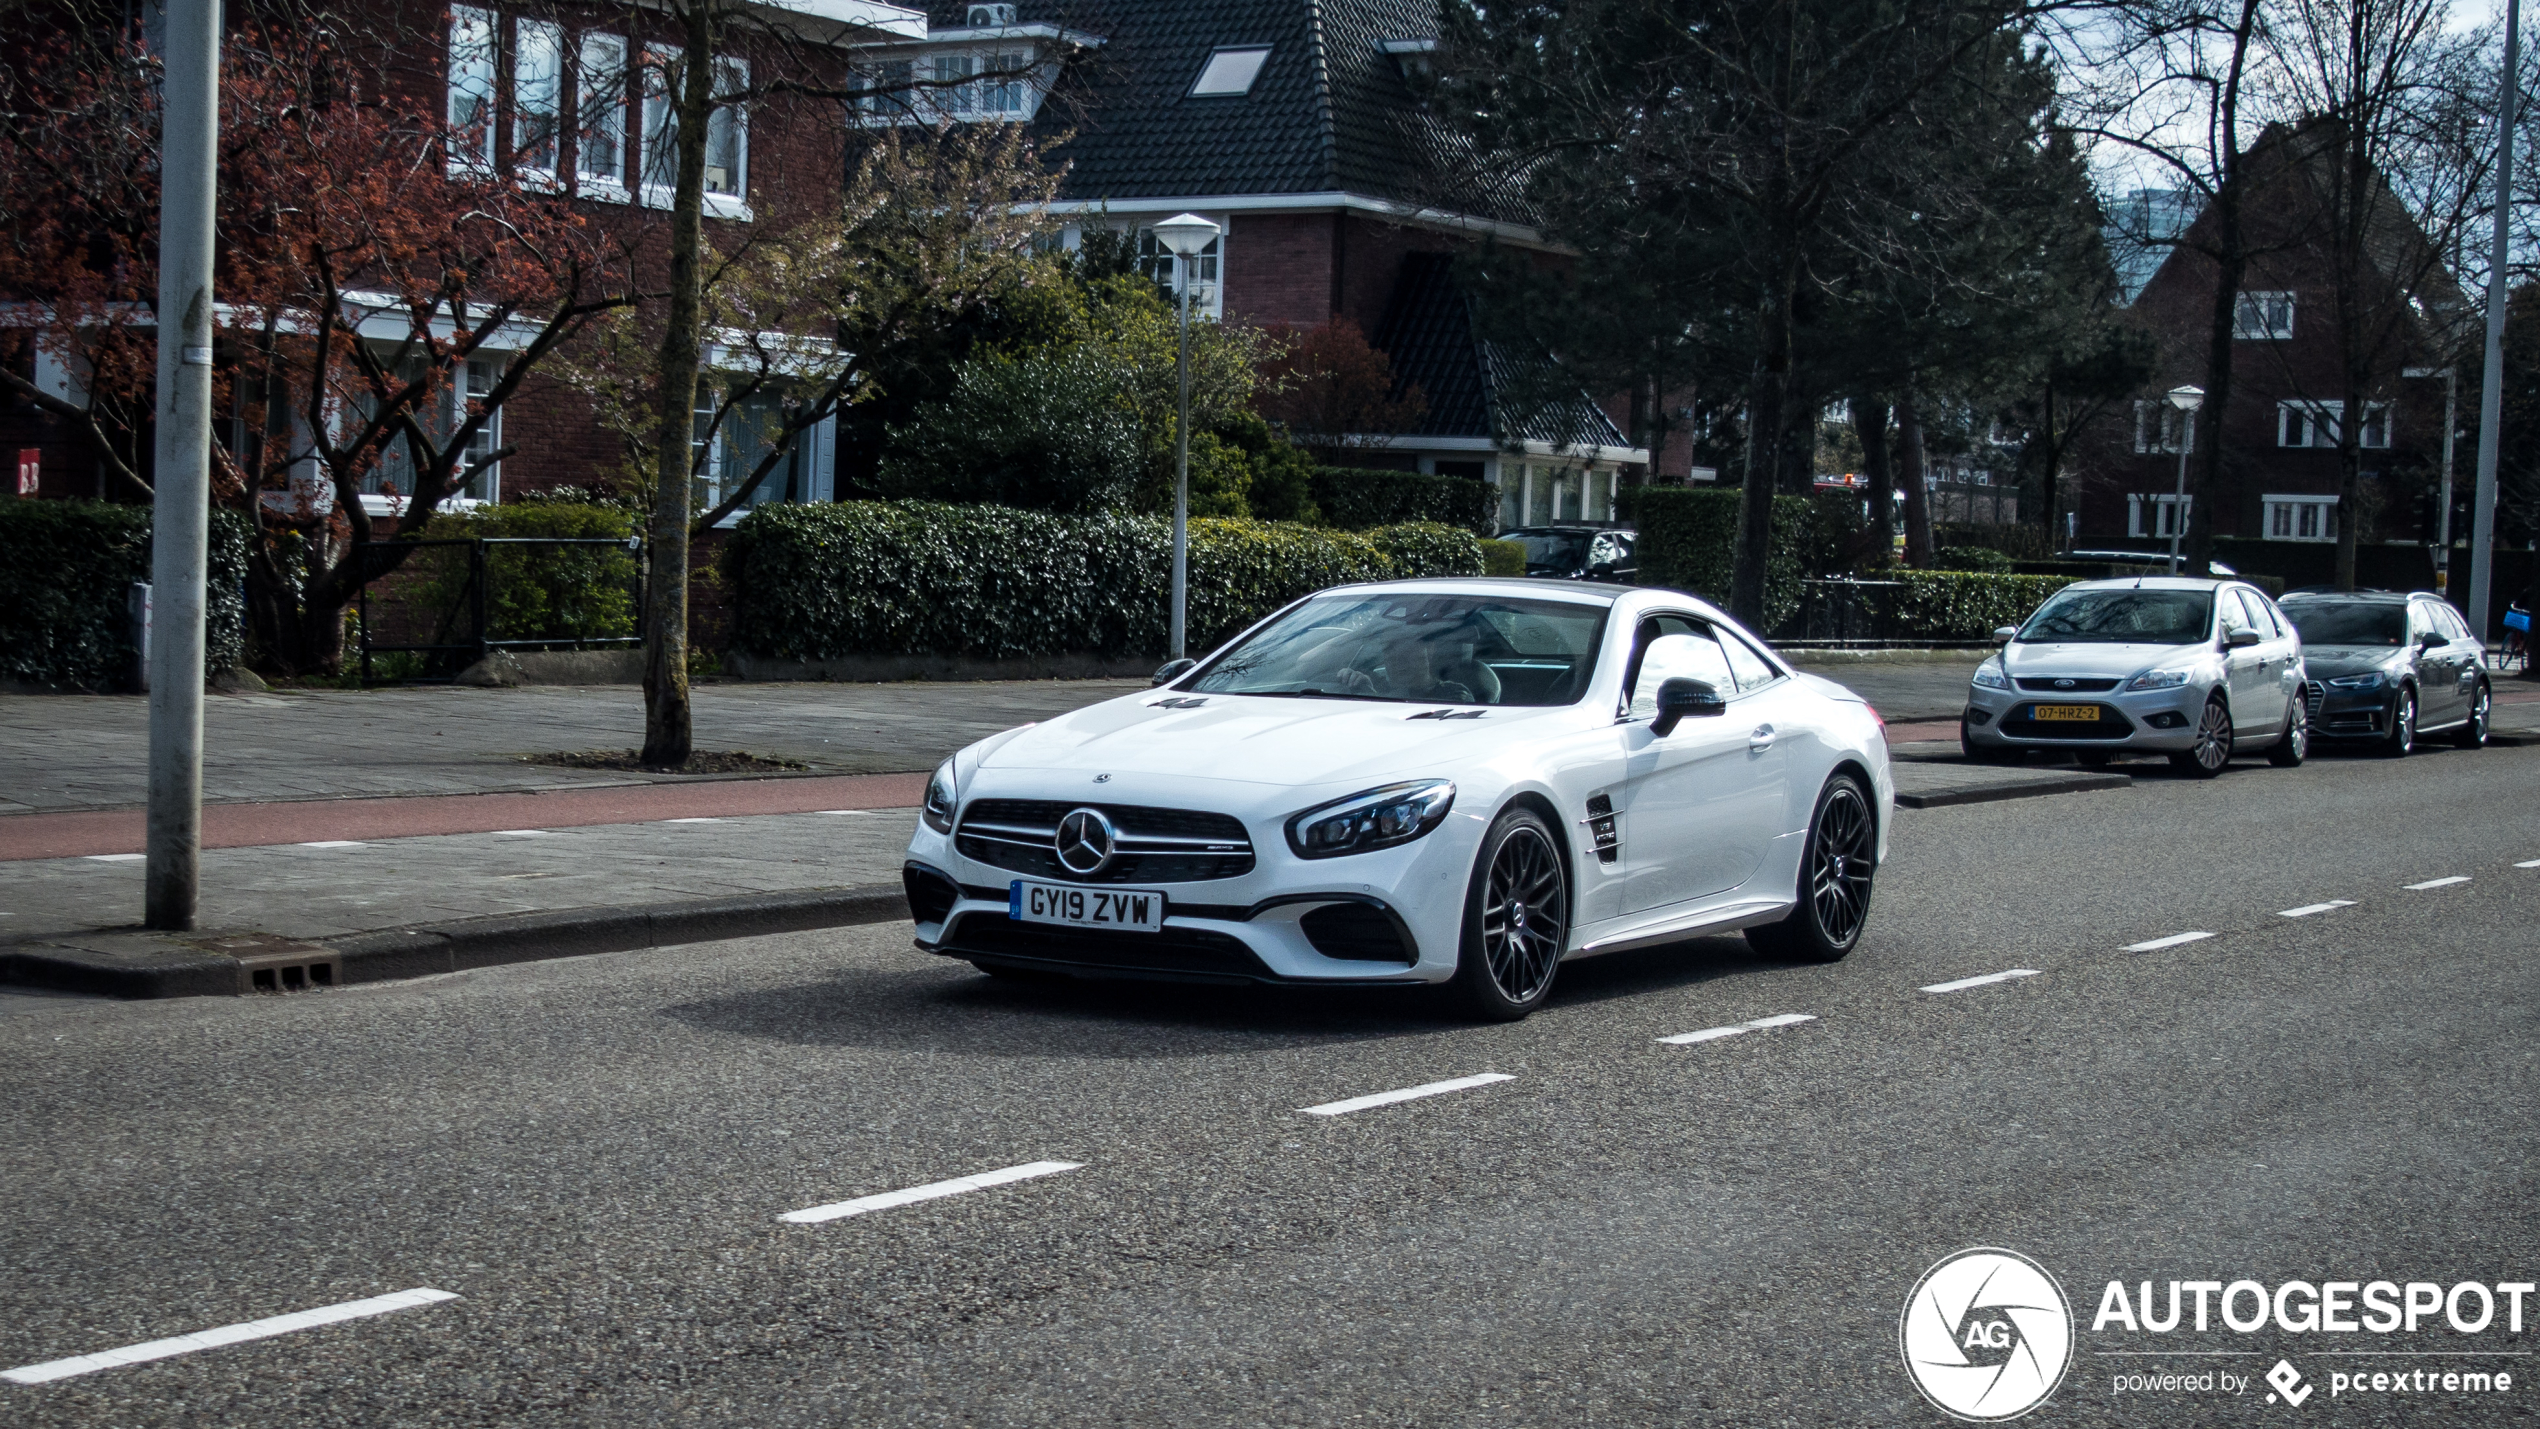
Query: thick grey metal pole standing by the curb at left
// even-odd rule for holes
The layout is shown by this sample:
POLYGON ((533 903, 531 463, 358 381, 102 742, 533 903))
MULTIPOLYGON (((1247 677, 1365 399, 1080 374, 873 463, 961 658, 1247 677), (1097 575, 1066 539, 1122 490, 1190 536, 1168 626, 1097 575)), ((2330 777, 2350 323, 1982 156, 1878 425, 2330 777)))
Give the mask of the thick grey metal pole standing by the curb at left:
POLYGON ((203 538, 211 525, 211 206, 221 0, 168 0, 160 119, 157 442, 150 482, 152 929, 193 926, 203 853, 203 538))

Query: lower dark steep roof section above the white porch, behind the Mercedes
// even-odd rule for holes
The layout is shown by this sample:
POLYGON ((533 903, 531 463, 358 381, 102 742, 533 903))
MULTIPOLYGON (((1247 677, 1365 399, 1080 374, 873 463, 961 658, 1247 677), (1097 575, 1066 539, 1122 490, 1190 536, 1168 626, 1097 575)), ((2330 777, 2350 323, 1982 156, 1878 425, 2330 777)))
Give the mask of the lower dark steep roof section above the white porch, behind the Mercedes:
POLYGON ((1473 300, 1455 284, 1448 254, 1407 254, 1374 345, 1394 365, 1394 386, 1417 386, 1427 414, 1407 437, 1488 437, 1506 447, 1631 447, 1588 401, 1557 383, 1547 358, 1476 335, 1473 300), (1534 393, 1567 393, 1542 401, 1534 393))

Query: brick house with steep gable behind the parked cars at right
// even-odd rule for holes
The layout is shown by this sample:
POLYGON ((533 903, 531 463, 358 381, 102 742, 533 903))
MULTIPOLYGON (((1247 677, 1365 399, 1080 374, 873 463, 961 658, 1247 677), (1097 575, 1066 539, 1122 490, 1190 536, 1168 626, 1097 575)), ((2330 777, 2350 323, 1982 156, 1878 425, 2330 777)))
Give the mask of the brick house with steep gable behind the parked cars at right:
MULTIPOLYGON (((2337 267, 2319 160, 2291 160, 2289 150, 2291 137, 2273 132, 2250 160, 2263 178, 2245 201, 2253 256, 2233 330, 2233 393, 2225 411, 2207 406, 2195 419, 2189 487, 2220 439, 2222 482, 2205 497, 2217 538, 2332 543, 2342 523, 2360 520, 2362 543, 2433 541, 2446 393, 2441 376, 2408 373, 2456 360, 2469 300, 2383 190, 2388 218, 2367 244, 2357 307, 2395 317, 2372 343, 2375 376, 2360 414, 2362 510, 2342 510, 2337 267)), ((2111 208, 2126 317, 2154 335, 2159 363, 2151 388, 2075 452, 2075 543, 2144 548, 2167 543, 2177 520, 2182 419, 2162 393, 2205 383, 2215 261, 2197 249, 2212 246, 2215 218, 2174 190, 2136 190, 2111 208)), ((2466 525, 2456 520, 2454 530, 2466 525)))

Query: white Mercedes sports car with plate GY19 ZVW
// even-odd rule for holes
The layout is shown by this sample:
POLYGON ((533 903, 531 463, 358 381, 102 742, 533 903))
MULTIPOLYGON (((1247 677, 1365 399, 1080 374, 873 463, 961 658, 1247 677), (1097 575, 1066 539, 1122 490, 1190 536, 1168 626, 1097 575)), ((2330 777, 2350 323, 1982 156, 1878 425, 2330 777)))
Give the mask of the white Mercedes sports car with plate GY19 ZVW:
POLYGON ((904 881, 917 947, 993 975, 1450 982, 1521 1018, 1577 954, 1844 957, 1892 805, 1880 716, 1704 602, 1389 581, 945 759, 904 881))

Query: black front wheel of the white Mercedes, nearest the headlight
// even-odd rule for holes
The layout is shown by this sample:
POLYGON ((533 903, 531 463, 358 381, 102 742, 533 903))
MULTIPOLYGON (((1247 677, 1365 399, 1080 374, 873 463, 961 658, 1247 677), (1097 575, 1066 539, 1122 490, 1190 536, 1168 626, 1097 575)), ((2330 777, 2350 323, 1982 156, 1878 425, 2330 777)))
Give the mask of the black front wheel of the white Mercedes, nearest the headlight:
POLYGON ((1570 871, 1544 820, 1509 810, 1481 840, 1466 893, 1455 992, 1478 1018, 1514 1023, 1544 1003, 1570 944, 1570 871))

